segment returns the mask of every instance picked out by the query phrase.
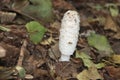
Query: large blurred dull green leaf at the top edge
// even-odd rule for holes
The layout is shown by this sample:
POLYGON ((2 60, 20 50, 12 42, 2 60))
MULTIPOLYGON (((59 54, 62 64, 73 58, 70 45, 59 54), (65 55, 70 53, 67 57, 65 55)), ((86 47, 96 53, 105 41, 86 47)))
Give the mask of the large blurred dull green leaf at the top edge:
POLYGON ((31 4, 22 9, 24 14, 27 14, 35 19, 44 22, 53 20, 52 2, 51 0, 29 0, 31 4))

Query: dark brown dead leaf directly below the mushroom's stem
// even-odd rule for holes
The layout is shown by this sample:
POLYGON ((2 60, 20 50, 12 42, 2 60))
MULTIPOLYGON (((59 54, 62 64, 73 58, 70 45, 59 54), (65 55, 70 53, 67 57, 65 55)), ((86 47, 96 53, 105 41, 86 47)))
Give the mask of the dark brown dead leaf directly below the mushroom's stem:
POLYGON ((55 71, 57 76, 62 78, 71 78, 77 75, 77 69, 80 65, 75 65, 72 62, 58 62, 56 63, 55 71))

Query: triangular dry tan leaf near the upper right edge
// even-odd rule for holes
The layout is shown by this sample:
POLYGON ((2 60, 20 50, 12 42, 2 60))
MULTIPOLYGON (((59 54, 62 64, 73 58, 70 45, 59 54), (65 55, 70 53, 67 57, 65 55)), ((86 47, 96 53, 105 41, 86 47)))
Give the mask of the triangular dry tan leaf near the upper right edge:
POLYGON ((105 30, 112 30, 114 32, 118 31, 118 25, 115 23, 115 21, 113 21, 111 16, 107 16, 104 29, 105 30))

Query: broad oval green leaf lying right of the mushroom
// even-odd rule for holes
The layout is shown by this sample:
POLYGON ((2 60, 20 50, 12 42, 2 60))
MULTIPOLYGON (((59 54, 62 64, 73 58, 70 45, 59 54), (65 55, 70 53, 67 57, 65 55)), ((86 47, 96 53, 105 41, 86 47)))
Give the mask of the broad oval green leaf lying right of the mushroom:
POLYGON ((113 53, 113 50, 105 36, 91 33, 91 35, 87 37, 87 40, 90 46, 96 48, 100 52, 105 52, 106 56, 110 56, 111 53, 113 53))

